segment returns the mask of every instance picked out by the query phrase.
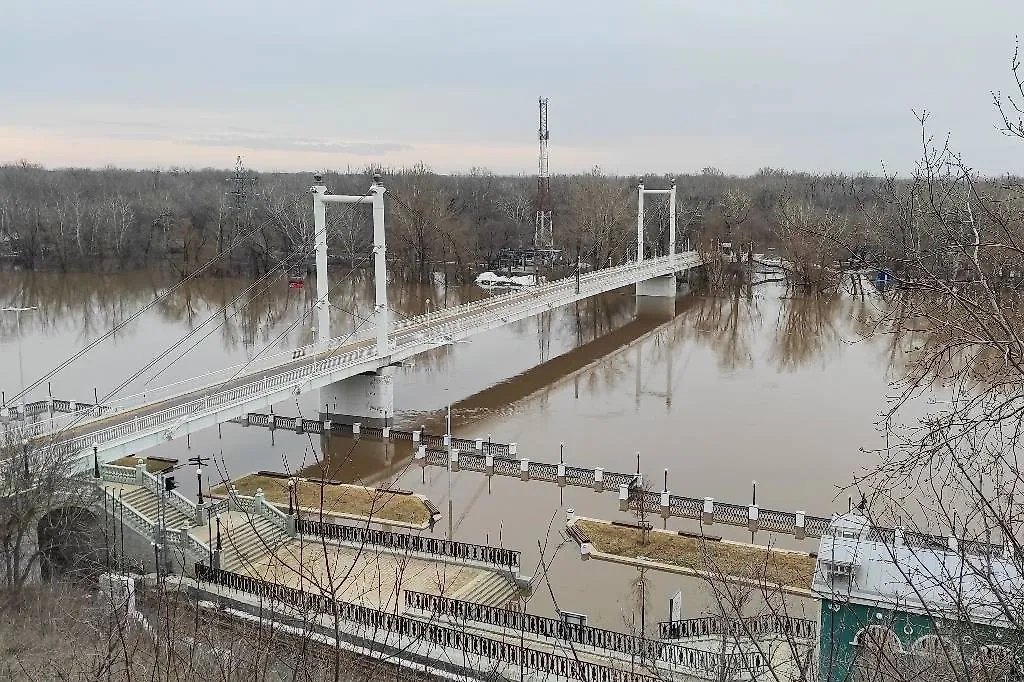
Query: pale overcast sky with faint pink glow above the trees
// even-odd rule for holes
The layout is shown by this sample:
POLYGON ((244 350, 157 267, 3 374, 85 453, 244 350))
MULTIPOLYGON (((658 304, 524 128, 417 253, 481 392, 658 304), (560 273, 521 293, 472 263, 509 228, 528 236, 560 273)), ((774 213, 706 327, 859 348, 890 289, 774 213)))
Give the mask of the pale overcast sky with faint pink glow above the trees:
POLYGON ((1021 0, 0 0, 0 163, 981 172, 1021 0))

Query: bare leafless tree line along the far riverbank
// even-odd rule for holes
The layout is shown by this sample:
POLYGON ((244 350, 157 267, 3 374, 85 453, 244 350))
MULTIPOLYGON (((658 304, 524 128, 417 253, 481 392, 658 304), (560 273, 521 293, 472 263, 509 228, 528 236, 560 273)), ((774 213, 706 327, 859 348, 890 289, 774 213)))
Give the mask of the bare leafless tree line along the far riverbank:
MULTIPOLYGON (((441 175, 419 164, 404 169, 325 173, 330 190, 367 193, 372 172, 384 174, 388 252, 409 280, 443 269, 465 281, 503 249, 532 245, 536 180, 474 168, 441 175)), ((555 246, 575 267, 604 267, 636 254, 639 176, 589 173, 552 178, 555 246)), ((743 249, 778 247, 804 263, 806 279, 842 257, 835 243, 883 250, 871 223, 885 219, 885 194, 909 180, 811 174, 765 168, 752 176, 715 168, 649 174, 648 187, 678 184, 680 249, 721 242, 743 249), (831 244, 808 241, 825 226, 831 244)), ((163 267, 181 274, 215 260, 211 274, 259 275, 312 266, 313 227, 307 173, 230 169, 49 170, 23 161, 0 166, 0 255, 28 269, 120 270, 163 267)), ((667 202, 645 206, 646 251, 668 248, 667 202)), ((828 242, 829 240, 825 240, 828 242)), ((333 258, 369 260, 369 210, 329 211, 333 258)))

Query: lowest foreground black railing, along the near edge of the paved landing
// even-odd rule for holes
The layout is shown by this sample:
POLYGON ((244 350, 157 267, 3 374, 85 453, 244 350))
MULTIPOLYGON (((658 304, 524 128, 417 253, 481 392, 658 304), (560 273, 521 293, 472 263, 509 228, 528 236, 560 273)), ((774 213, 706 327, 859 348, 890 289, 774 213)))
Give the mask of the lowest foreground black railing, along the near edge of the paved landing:
MULTIPOLYGON (((375 641, 390 640, 387 637, 387 634, 390 633, 411 642, 410 646, 445 647, 516 668, 522 667, 525 670, 586 682, 655 682, 658 679, 643 673, 618 670, 551 651, 522 646, 518 643, 477 635, 438 623, 337 601, 329 595, 313 594, 251 576, 212 570, 201 562, 196 564, 196 579, 200 584, 219 585, 260 599, 290 606, 301 613, 314 612, 332 617, 337 616, 353 624, 354 627, 345 628, 344 631, 365 633, 365 636, 375 641)), ((263 612, 267 613, 266 610, 263 612)), ((438 658, 444 658, 444 656, 438 658)))

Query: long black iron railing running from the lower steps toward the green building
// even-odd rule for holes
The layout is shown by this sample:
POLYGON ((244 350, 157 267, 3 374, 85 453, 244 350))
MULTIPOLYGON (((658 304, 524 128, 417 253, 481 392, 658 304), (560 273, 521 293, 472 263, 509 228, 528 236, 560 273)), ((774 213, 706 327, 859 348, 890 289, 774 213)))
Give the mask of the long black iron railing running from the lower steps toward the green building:
POLYGON ((592 649, 614 651, 624 656, 671 663, 708 679, 744 679, 744 674, 753 677, 767 670, 765 656, 757 651, 707 651, 435 594, 413 590, 404 590, 404 593, 407 609, 442 616, 457 624, 479 623, 512 632, 529 633, 535 637, 572 642, 592 649))

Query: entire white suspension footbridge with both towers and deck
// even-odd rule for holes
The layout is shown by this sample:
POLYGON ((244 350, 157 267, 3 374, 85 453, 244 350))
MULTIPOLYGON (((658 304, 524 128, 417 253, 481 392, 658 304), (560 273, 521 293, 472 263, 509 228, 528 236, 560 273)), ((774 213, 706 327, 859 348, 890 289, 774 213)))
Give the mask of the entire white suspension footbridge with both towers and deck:
MULTIPOLYGON (((205 374, 8 430, 40 453, 74 458, 77 470, 109 462, 251 412, 319 390, 327 420, 386 423, 394 415, 392 368, 419 353, 538 313, 627 286, 638 299, 673 298, 676 274, 702 263, 696 252, 676 252, 676 187, 638 187, 637 257, 633 262, 514 290, 502 296, 394 322, 387 301, 385 186, 379 176, 368 195, 329 194, 319 176, 310 187, 316 254, 317 341, 258 361, 205 374), (670 203, 668 255, 648 258, 644 248, 644 197, 667 195, 670 203), (372 329, 331 336, 328 293, 327 205, 370 203, 374 225, 375 305, 372 329), (42 447, 39 447, 42 446, 42 447)), ((369 327, 369 326, 368 326, 369 327)), ((20 411, 24 418, 24 407, 20 411)), ((12 411, 12 414, 16 414, 12 411)))

